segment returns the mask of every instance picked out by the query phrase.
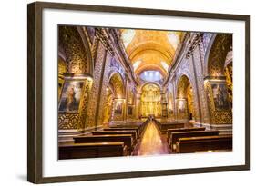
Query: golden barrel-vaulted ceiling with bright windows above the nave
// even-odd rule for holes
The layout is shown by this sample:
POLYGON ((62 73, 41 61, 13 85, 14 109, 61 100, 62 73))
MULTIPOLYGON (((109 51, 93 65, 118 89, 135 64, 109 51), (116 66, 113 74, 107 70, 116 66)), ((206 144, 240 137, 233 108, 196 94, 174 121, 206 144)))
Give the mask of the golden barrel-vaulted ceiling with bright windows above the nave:
POLYGON ((165 77, 184 32, 121 29, 121 39, 138 76, 159 71, 165 77))

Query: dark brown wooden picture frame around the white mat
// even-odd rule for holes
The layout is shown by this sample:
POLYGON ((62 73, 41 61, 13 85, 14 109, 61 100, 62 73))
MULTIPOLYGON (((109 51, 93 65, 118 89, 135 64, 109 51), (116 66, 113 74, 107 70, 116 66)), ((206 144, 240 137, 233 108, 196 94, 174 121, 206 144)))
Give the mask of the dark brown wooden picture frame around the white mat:
POLYGON ((34 183, 63 181, 92 181, 148 176, 163 176, 216 171, 242 171, 250 169, 250 15, 226 15, 213 13, 170 11, 100 5, 75 5, 35 2, 27 5, 27 181, 34 183), (93 175, 68 175, 43 177, 42 144, 42 12, 44 9, 111 12, 136 15, 166 15, 178 17, 239 20, 245 23, 245 163, 243 165, 192 168, 161 171, 133 171, 93 175))

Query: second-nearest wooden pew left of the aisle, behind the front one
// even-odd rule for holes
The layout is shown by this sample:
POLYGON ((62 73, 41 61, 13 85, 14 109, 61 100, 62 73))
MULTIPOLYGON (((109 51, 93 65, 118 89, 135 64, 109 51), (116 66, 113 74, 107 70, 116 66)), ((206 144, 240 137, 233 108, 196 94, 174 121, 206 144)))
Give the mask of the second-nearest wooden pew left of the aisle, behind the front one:
POLYGON ((124 142, 128 147, 129 154, 133 150, 133 139, 131 134, 111 134, 111 135, 88 135, 74 137, 75 143, 88 142, 124 142))

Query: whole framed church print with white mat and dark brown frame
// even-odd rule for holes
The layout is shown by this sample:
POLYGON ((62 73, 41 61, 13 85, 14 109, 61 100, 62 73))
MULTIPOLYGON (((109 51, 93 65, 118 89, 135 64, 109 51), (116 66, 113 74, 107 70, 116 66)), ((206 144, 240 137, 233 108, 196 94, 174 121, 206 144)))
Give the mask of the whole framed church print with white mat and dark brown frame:
POLYGON ((249 15, 36 2, 27 20, 28 181, 250 169, 249 15))

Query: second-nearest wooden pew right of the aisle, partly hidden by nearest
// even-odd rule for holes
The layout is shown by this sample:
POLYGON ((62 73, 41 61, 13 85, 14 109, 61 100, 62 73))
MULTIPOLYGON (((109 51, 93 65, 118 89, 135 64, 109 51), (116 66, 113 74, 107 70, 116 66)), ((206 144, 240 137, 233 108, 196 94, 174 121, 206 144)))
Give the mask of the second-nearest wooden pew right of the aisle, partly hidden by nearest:
POLYGON ((189 137, 198 137, 198 136, 214 136, 219 135, 219 131, 191 131, 191 132, 172 132, 169 137, 169 145, 171 151, 176 151, 176 142, 179 138, 189 138, 189 137))

